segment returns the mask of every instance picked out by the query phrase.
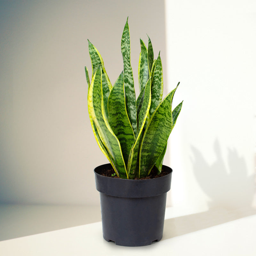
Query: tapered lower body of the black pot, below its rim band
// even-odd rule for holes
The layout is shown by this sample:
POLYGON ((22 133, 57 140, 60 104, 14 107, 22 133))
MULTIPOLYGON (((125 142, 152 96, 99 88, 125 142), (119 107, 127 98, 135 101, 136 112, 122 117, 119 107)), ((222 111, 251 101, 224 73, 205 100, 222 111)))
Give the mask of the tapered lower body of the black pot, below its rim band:
POLYGON ((123 246, 144 246, 160 241, 166 195, 127 198, 100 193, 104 239, 123 246))

